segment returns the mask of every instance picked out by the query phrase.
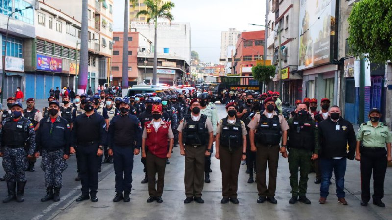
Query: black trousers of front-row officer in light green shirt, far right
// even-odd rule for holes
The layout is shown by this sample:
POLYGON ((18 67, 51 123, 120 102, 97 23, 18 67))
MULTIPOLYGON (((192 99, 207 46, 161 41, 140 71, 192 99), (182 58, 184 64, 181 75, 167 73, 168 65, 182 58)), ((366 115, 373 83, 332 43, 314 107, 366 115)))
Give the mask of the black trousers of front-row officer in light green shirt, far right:
POLYGON ((382 148, 361 147, 361 198, 370 200, 370 179, 373 172, 373 201, 384 197, 384 179, 387 171, 387 151, 382 148))

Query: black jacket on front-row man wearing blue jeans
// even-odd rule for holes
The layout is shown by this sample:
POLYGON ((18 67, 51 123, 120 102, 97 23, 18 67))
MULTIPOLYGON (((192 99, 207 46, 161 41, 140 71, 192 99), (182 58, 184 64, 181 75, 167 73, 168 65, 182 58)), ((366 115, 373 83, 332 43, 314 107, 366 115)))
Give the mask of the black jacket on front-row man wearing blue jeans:
POLYGON ((353 160, 356 138, 352 124, 342 117, 337 122, 329 117, 319 123, 321 158, 347 157, 353 160), (347 153, 347 144, 348 150, 347 153))

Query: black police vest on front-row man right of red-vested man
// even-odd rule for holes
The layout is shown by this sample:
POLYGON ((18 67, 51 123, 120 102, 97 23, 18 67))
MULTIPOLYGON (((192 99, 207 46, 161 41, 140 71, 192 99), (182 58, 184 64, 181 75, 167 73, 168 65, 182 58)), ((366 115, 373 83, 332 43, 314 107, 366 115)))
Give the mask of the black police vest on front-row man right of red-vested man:
POLYGON ((205 127, 207 116, 201 115, 199 121, 193 121, 191 114, 186 115, 185 129, 182 132, 182 142, 188 145, 205 145, 208 143, 209 134, 205 127))

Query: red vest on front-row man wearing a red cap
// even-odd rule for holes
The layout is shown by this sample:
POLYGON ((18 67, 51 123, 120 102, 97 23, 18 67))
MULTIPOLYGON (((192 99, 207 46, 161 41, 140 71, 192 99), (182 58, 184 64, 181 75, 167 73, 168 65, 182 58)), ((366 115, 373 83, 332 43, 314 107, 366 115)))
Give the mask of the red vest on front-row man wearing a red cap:
POLYGON ((147 132, 146 145, 148 146, 148 151, 159 158, 166 158, 168 153, 168 133, 170 122, 163 121, 165 124, 161 124, 158 128, 158 132, 155 132, 155 127, 148 121, 145 123, 145 128, 147 132))

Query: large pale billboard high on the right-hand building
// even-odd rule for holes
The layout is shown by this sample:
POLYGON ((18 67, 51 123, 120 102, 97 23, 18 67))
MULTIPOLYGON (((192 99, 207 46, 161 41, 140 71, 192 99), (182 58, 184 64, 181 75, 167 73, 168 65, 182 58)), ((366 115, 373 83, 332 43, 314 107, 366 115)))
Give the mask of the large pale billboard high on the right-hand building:
POLYGON ((298 70, 333 60, 335 4, 336 0, 300 0, 298 70))

